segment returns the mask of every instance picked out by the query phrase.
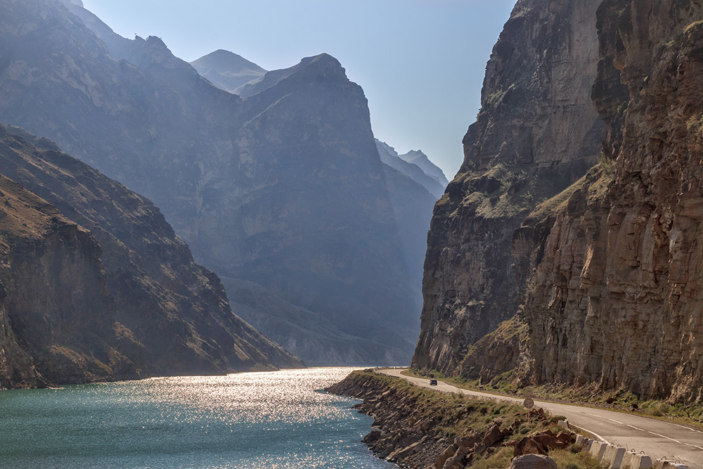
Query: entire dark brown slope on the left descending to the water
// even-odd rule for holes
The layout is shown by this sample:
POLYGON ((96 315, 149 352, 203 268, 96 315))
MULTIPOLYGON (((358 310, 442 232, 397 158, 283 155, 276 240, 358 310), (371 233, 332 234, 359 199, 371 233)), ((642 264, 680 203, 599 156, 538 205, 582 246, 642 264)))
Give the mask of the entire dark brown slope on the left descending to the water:
POLYGON ((18 128, 0 173, 4 387, 302 366, 145 198, 18 128))

